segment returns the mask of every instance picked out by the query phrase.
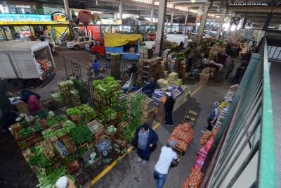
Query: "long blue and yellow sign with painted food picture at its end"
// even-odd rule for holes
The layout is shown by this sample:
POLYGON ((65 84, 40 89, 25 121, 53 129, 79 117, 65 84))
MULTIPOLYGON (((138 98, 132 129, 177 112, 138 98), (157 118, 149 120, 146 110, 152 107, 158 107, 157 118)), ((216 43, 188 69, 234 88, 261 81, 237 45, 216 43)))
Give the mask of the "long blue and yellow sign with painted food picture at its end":
POLYGON ((0 25, 45 25, 45 24, 69 24, 64 13, 52 15, 40 14, 0 14, 0 25))

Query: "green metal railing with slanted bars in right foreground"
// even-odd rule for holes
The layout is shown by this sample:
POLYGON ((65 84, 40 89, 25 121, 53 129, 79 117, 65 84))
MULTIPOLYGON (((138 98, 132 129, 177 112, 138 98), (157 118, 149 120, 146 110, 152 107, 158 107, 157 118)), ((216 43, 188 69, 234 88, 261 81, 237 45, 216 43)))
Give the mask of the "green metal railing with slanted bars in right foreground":
POLYGON ((275 187, 275 149, 266 39, 253 54, 214 145, 206 187, 275 187))

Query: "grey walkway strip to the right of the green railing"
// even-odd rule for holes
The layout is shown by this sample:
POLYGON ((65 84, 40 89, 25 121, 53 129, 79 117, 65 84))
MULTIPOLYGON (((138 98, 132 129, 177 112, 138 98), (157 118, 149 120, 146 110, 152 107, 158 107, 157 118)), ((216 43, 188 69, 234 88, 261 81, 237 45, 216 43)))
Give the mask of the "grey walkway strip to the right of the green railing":
POLYGON ((275 160, 277 187, 281 187, 281 63, 272 62, 270 65, 270 87, 273 102, 273 125, 275 132, 275 160))

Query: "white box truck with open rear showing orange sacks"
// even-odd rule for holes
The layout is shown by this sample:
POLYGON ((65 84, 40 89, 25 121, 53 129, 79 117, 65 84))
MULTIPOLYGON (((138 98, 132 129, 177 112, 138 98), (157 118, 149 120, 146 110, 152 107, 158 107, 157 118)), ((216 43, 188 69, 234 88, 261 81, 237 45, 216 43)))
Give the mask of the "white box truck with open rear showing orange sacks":
POLYGON ((1 42, 0 79, 20 89, 29 80, 44 81, 55 75, 55 63, 48 42, 1 42))

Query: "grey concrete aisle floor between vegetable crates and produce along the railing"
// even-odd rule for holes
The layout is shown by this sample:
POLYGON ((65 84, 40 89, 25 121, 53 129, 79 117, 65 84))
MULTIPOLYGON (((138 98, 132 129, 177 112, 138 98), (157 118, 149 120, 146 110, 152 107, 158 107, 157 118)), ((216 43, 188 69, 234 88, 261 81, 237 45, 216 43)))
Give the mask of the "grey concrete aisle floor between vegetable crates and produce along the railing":
MULTIPOLYGON (((237 63, 238 65, 238 63, 237 63)), ((188 109, 200 113, 195 125, 195 135, 187 153, 183 156, 177 167, 170 168, 164 187, 181 187, 185 178, 190 173, 190 168, 195 161, 196 153, 202 147, 199 139, 202 130, 207 127, 207 118, 214 101, 222 101, 224 94, 230 87, 230 80, 224 80, 225 73, 220 73, 213 80, 210 80, 207 87, 200 87, 197 80, 188 80, 192 97, 181 108, 173 114, 174 125, 183 121, 185 111, 188 109)), ((230 75, 232 78, 233 75, 230 75)), ((156 187, 156 180, 153 177, 155 163, 158 160, 160 149, 169 139, 174 127, 159 125, 155 130, 159 136, 157 149, 151 154, 150 161, 145 166, 137 162, 136 151, 132 151, 124 158, 122 164, 116 165, 105 176, 103 176, 93 187, 156 187)))

